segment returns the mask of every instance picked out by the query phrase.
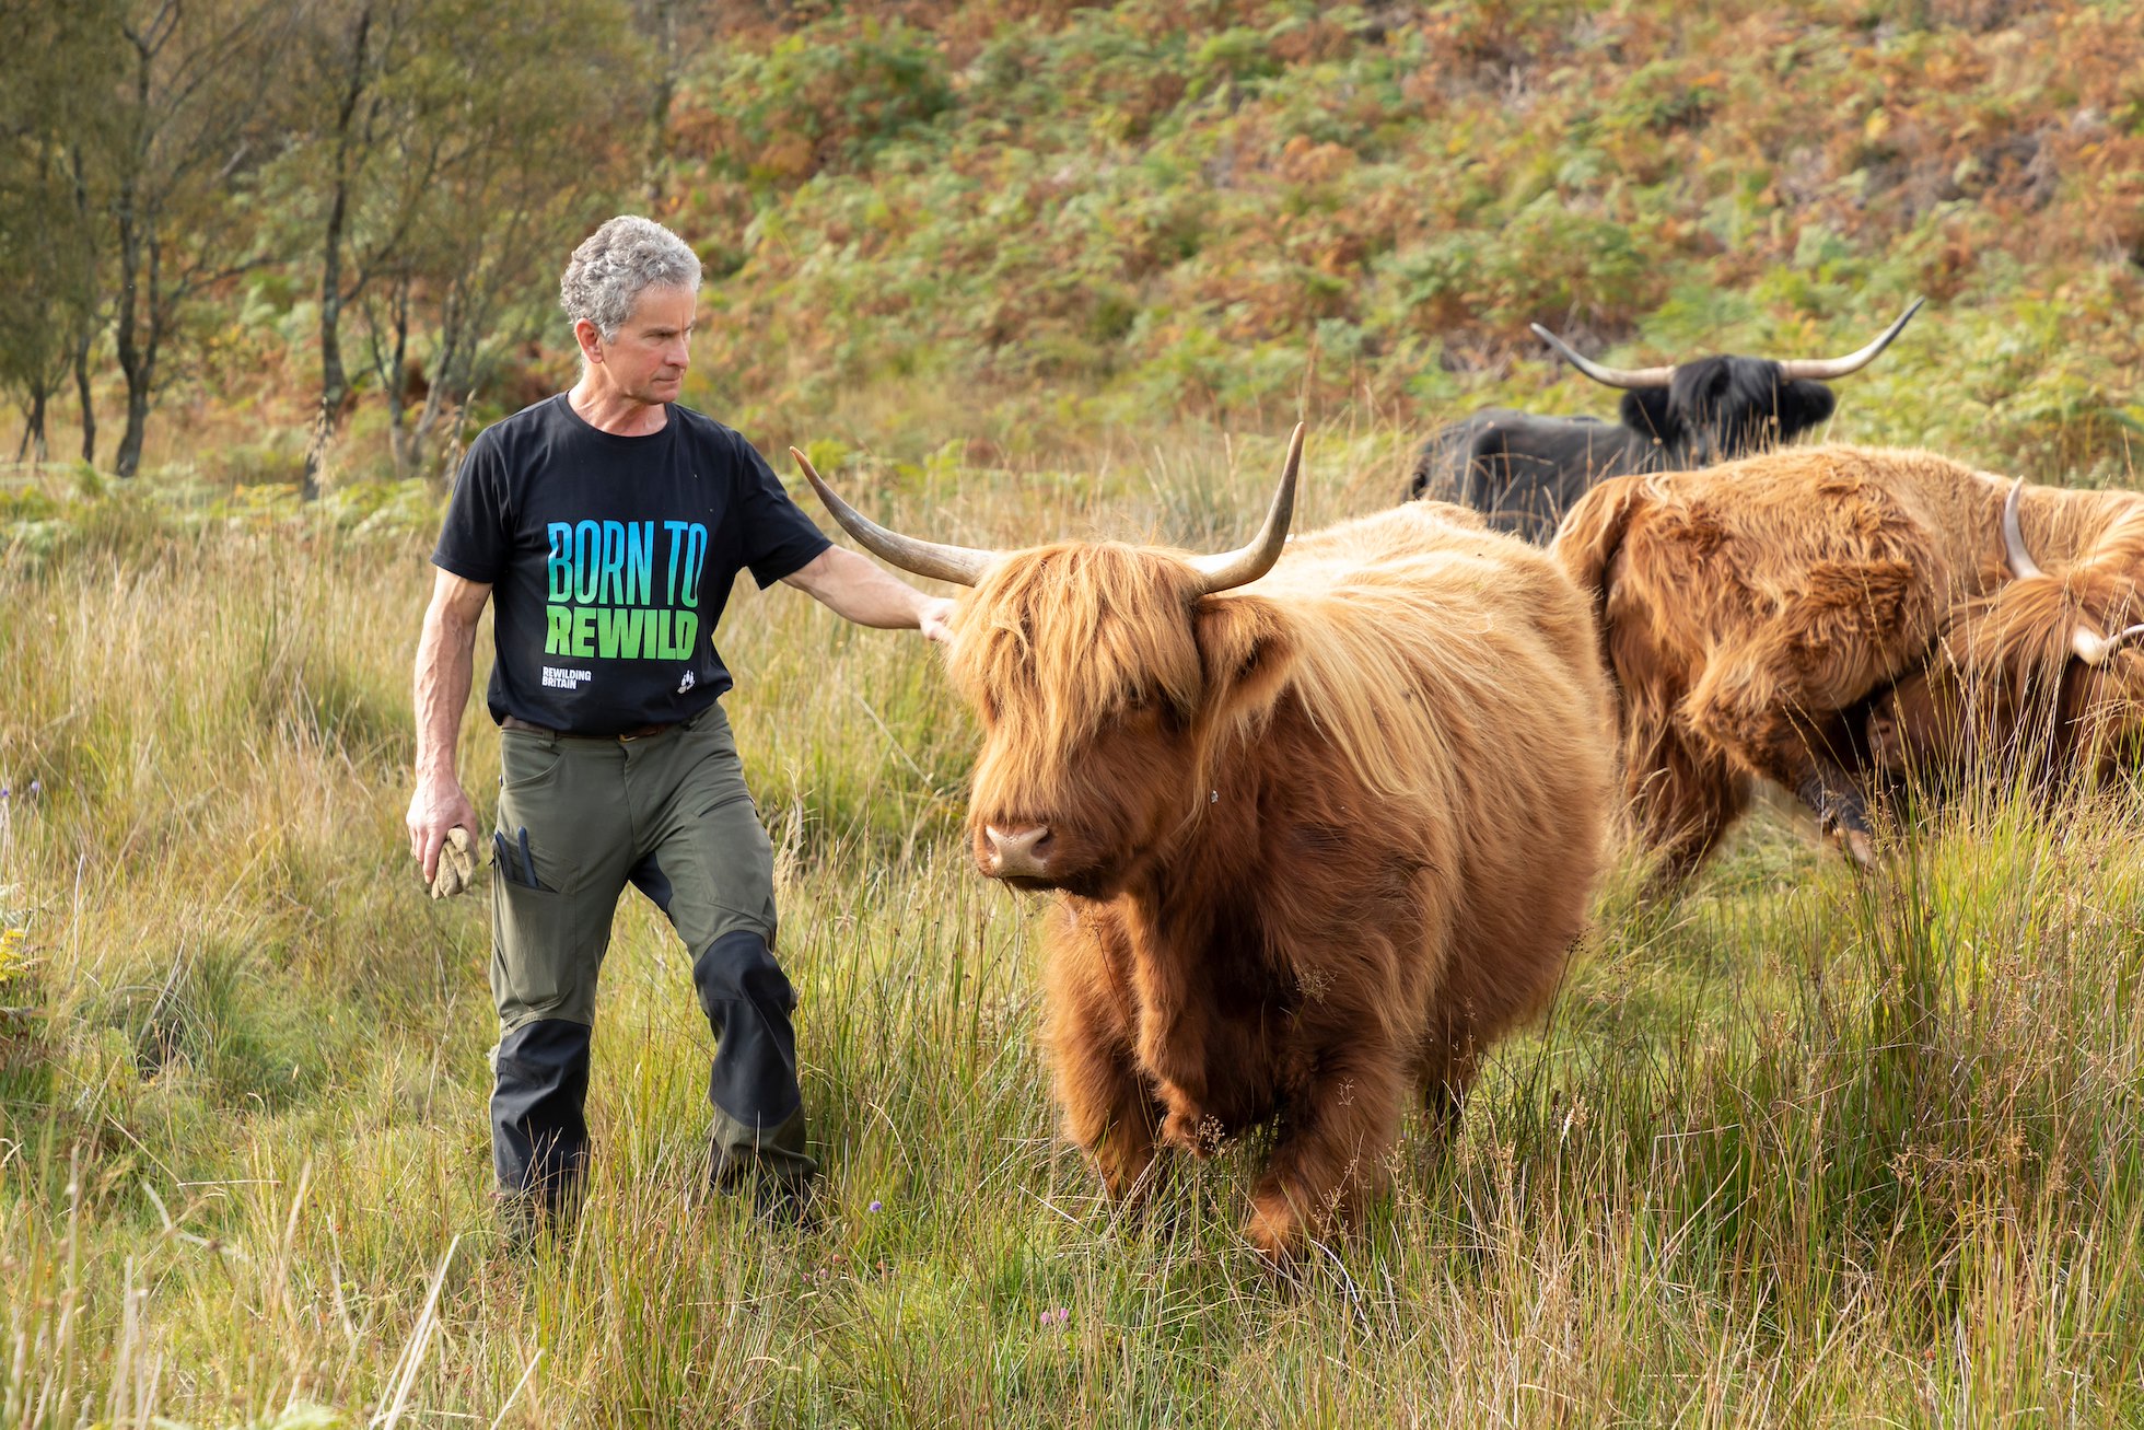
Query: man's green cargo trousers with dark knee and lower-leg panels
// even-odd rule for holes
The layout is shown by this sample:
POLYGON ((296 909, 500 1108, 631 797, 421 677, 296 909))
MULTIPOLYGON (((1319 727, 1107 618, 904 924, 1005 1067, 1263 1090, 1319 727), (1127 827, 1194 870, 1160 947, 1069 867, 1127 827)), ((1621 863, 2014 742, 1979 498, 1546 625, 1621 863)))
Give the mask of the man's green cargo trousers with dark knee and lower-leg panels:
POLYGON ((500 731, 491 870, 491 1151, 500 1192, 542 1211, 587 1162, 587 1048, 596 973, 626 883, 695 954, 716 1036, 710 1177, 802 1194, 795 993, 774 960, 774 851, 720 705, 641 738, 500 731))

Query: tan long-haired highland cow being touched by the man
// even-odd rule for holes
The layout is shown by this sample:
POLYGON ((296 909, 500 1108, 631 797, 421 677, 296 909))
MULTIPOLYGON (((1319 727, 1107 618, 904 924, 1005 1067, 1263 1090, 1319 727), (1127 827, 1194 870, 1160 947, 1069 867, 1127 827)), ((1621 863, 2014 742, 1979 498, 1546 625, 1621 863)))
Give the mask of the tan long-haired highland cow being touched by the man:
POLYGON ((1411 504, 1218 557, 1119 542, 864 547, 967 585, 984 875, 1055 890, 1046 1046, 1068 1136, 1123 1196, 1160 1147, 1274 1123, 1248 1237, 1351 1224, 1409 1091, 1447 1126, 1563 973, 1604 858, 1608 686, 1544 551, 1411 504))

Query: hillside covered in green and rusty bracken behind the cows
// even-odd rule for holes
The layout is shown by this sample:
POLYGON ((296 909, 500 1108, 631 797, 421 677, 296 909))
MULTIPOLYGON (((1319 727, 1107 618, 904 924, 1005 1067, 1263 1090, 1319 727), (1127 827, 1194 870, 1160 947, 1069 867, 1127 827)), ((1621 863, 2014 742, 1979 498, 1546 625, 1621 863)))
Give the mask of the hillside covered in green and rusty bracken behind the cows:
POLYGON ((671 219, 718 277, 701 399, 768 433, 1608 412, 1529 322, 1816 356, 1917 294, 1835 435, 2056 476, 2144 431, 2127 4, 986 0, 720 51, 671 219))

